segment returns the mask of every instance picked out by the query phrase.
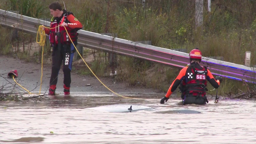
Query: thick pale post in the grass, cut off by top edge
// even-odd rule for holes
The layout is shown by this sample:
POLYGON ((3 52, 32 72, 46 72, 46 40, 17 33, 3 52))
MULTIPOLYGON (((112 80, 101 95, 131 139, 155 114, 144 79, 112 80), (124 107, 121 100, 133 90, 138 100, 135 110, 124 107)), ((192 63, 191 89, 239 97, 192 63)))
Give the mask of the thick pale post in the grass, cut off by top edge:
POLYGON ((196 27, 203 24, 203 0, 195 0, 195 24, 196 27))

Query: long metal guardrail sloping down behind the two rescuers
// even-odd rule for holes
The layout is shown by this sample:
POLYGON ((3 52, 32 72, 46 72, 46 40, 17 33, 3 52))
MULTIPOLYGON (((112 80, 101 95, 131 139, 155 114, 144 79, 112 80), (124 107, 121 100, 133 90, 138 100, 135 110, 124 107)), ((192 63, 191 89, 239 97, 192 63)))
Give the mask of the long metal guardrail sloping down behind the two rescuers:
MULTIPOLYGON (((13 26, 20 31, 36 33, 39 25, 50 26, 50 22, 39 20, 16 13, 0 10, 0 23, 13 26)), ((154 61, 171 67, 183 68, 189 63, 189 54, 152 45, 145 45, 125 39, 110 37, 90 31, 78 31, 78 44, 86 48, 113 52, 119 55, 154 61)), ((256 68, 246 67, 226 61, 202 57, 200 63, 208 67, 212 74, 221 75, 236 80, 256 83, 256 68)))

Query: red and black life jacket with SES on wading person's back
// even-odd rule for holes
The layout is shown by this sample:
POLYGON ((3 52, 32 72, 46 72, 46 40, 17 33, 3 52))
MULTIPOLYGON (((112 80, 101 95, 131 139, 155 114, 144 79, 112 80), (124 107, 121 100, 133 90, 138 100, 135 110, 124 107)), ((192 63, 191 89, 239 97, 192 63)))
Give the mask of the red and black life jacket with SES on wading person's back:
POLYGON ((207 86, 207 68, 197 69, 189 66, 185 75, 185 91, 187 96, 205 96, 207 86))

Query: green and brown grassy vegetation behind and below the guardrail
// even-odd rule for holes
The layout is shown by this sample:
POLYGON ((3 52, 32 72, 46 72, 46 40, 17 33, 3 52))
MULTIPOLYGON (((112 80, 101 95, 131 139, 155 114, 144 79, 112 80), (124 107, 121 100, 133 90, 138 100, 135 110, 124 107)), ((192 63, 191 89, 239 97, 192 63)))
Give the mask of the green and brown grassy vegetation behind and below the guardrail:
MULTIPOLYGON (((51 18, 48 4, 52 0, 3 0, 3 10, 19 11, 22 15, 34 18, 51 18)), ((59 1, 63 4, 63 1, 59 1)), ((65 6, 72 11, 84 26, 84 30, 96 33, 116 33, 118 38, 132 41, 151 41, 152 45, 174 49, 182 48, 187 52, 199 48, 203 56, 223 56, 224 61, 244 64, 246 51, 251 51, 251 64, 256 64, 256 1, 214 0, 211 12, 207 11, 204 1, 203 25, 195 25, 195 0, 68 0, 65 6)), ((16 54, 10 47, 13 43, 24 43, 26 36, 19 42, 11 40, 13 30, 0 28, 0 53, 16 54), (8 50, 9 49, 9 50, 8 50)), ((20 34, 20 33, 19 33, 20 34)), ((24 34, 23 34, 24 35, 24 34)), ((23 38, 22 37, 22 38, 23 38)), ((18 36, 18 39, 20 37, 18 36)), ((35 39, 34 39, 35 40, 35 39)), ((20 46, 23 44, 19 44, 20 46)), ((45 56, 50 56, 49 46, 45 56)), ((111 69, 104 52, 96 52, 91 69, 97 76, 106 76, 111 69)), ((27 53, 23 51, 23 55, 27 53)), ((35 54, 40 56, 40 54, 35 54)), ((19 56, 22 58, 23 56, 19 56)), ((144 86, 167 91, 170 83, 178 75, 178 69, 118 56, 117 80, 126 81, 131 86, 144 86)), ((89 74, 84 69, 82 74, 89 74)), ((211 89, 209 86, 208 89, 211 89)), ((240 93, 246 86, 236 80, 225 79, 220 94, 240 93)), ((212 92, 215 93, 215 92, 212 92)))

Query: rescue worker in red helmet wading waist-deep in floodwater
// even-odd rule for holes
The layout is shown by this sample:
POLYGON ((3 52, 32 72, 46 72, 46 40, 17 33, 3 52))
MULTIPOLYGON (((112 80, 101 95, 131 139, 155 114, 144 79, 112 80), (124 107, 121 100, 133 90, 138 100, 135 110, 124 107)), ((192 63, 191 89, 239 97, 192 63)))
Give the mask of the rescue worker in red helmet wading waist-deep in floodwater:
POLYGON ((214 88, 219 87, 222 77, 217 76, 214 79, 213 75, 206 67, 201 67, 199 65, 202 60, 202 53, 198 48, 191 50, 189 53, 189 60, 190 65, 181 69, 168 89, 165 97, 161 99, 161 104, 167 102, 173 91, 181 85, 180 89, 183 105, 206 105, 206 102, 208 103, 206 98, 207 80, 214 88))

